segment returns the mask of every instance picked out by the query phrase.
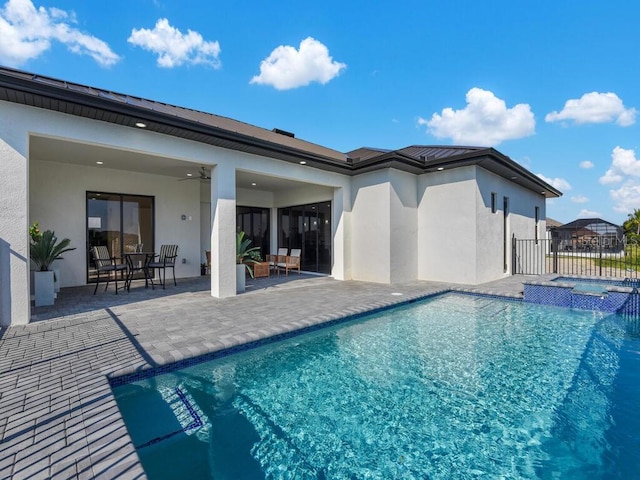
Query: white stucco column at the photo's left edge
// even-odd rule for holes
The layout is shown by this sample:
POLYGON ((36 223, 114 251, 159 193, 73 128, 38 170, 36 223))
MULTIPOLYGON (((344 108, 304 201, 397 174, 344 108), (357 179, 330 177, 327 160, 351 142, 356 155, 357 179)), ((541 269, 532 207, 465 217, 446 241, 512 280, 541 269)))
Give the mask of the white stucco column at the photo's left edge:
POLYGON ((29 175, 26 131, 0 132, 0 325, 29 322, 29 175), (10 142, 10 143, 6 143, 10 142))

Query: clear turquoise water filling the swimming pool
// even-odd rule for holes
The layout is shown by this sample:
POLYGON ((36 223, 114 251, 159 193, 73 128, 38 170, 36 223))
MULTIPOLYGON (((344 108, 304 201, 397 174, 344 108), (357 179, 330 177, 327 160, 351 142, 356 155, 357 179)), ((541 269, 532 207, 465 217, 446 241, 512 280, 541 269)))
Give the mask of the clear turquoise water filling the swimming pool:
POLYGON ((114 388, 150 479, 638 478, 640 326, 448 294, 114 388))

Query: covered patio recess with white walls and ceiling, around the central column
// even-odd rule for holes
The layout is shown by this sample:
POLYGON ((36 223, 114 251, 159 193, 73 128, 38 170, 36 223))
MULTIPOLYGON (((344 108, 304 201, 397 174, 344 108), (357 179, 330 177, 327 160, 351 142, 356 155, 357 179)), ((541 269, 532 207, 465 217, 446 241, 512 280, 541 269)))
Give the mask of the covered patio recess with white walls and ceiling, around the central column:
MULTIPOLYGON (((29 217, 41 229, 70 238, 76 247, 55 264, 63 287, 94 281, 90 250, 96 244, 106 245, 112 255, 121 257, 137 251, 137 245, 157 252, 168 243, 179 246, 179 283, 198 275, 206 261, 205 251, 211 251, 209 292, 216 297, 233 296, 235 286, 229 280, 235 278, 235 232, 247 231, 253 245, 261 247, 264 259, 289 241, 282 234, 281 210, 313 202, 328 205, 325 258, 331 262, 332 232, 341 217, 336 212, 332 222, 332 205, 336 205, 334 197, 342 195, 341 188, 310 182, 304 178, 304 167, 297 175, 293 167, 294 174, 287 176, 270 171, 274 165, 267 159, 250 159, 252 169, 242 162, 205 166, 170 156, 169 144, 166 149, 155 146, 140 151, 137 140, 138 150, 134 151, 87 139, 30 136, 29 217), (246 215, 241 212, 245 211, 265 212, 266 224, 250 231, 252 223, 243 221, 246 215)), ((320 181, 323 179, 316 180, 320 181)), ((340 198, 338 208, 342 203, 340 198)), ((333 262, 327 268, 328 273, 333 262)))

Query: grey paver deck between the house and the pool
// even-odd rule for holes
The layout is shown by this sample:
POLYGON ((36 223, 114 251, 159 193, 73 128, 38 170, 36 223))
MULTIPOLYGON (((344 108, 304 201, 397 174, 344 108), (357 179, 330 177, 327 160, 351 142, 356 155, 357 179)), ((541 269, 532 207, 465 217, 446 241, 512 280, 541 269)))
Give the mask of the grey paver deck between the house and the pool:
POLYGON ((28 325, 0 328, 0 478, 146 478, 108 378, 447 290, 521 297, 525 277, 464 287, 310 275, 210 295, 208 278, 166 290, 63 289, 28 325))

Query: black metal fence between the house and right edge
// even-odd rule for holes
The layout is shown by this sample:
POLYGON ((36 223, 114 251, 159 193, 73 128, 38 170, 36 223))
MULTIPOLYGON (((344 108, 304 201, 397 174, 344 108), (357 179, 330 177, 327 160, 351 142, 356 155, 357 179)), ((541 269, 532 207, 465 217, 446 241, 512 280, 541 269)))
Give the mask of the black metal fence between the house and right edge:
POLYGON ((512 273, 524 275, 586 275, 639 278, 640 245, 622 239, 617 248, 608 242, 591 242, 582 248, 561 248, 554 239, 512 241, 512 273))

